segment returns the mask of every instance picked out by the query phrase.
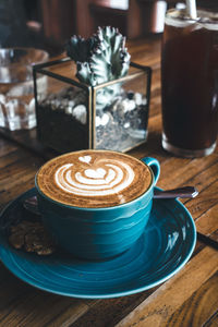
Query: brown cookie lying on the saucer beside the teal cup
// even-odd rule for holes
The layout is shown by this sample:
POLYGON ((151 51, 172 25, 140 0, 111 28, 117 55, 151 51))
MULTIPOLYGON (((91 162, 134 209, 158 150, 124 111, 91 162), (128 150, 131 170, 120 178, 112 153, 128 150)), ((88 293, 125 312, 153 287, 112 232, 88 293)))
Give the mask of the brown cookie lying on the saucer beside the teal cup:
POLYGON ((23 220, 10 229, 9 242, 15 249, 48 255, 56 251, 55 243, 41 222, 23 220))

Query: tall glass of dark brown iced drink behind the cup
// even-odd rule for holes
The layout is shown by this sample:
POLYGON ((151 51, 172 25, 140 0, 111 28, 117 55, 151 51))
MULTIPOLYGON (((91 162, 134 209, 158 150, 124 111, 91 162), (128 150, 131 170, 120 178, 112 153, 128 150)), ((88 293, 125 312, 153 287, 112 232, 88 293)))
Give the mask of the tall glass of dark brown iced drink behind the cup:
POLYGON ((218 133, 218 16, 167 13, 161 53, 162 146, 182 156, 213 153, 218 133))

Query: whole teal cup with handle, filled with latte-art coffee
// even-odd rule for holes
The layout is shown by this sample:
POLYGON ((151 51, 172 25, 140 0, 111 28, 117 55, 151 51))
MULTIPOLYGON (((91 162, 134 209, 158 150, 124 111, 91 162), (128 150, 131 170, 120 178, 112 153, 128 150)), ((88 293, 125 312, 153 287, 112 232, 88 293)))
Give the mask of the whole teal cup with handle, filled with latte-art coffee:
POLYGON ((159 177, 154 158, 82 150, 46 162, 36 175, 45 227, 65 251, 105 259, 130 249, 148 221, 159 177))

